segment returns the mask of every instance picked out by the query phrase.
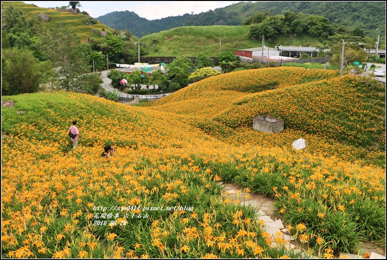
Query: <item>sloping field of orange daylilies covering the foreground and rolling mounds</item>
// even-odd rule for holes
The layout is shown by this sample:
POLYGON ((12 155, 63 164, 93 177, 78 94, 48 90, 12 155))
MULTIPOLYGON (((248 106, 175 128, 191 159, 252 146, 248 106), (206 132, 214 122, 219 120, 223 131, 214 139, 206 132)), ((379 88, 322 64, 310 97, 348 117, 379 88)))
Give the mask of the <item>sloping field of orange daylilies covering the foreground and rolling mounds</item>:
POLYGON ((299 256, 282 237, 268 237, 253 208, 239 204, 252 192, 273 197, 291 234, 321 258, 357 253, 364 240, 383 244, 385 151, 366 142, 372 141, 367 131, 385 131, 375 118, 379 108, 370 108, 381 91, 372 82, 327 72, 307 82, 305 76, 285 80, 295 74, 284 68, 267 72, 265 77, 278 81, 260 93, 253 92, 261 83, 222 88, 227 74, 219 75, 220 85, 215 77, 202 80, 144 107, 66 92, 2 97, 16 103, 1 111, 2 257, 299 256), (285 71, 288 76, 280 76, 285 71), (340 87, 346 95, 335 92, 340 87), (305 96, 308 89, 320 92, 305 96), (333 95, 343 101, 312 105, 333 95), (300 97, 306 97, 304 105, 296 106, 300 97), (285 131, 252 130, 248 117, 260 115, 258 108, 287 116, 285 131), (363 131, 354 131, 351 141, 329 129, 313 132, 319 122, 301 128, 290 119, 301 108, 318 115, 317 121, 331 109, 339 120, 320 122, 326 128, 352 133, 357 121, 363 131), (350 118, 341 119, 337 111, 350 118), (74 119, 82 138, 72 151, 67 132, 74 119), (308 140, 306 153, 286 146, 298 138, 308 140), (110 160, 100 158, 106 144, 116 148, 110 160), (377 163, 369 155, 379 157, 377 163), (219 181, 241 184, 246 197, 229 200, 219 181))

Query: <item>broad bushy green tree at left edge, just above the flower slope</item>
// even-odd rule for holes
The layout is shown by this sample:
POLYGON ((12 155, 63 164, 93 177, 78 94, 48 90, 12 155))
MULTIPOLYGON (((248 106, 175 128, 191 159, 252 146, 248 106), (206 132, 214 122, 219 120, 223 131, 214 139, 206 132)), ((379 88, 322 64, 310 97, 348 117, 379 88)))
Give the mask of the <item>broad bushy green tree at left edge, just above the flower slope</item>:
POLYGON ((37 92, 39 85, 48 82, 53 75, 51 62, 39 62, 28 49, 1 51, 1 95, 37 92))

